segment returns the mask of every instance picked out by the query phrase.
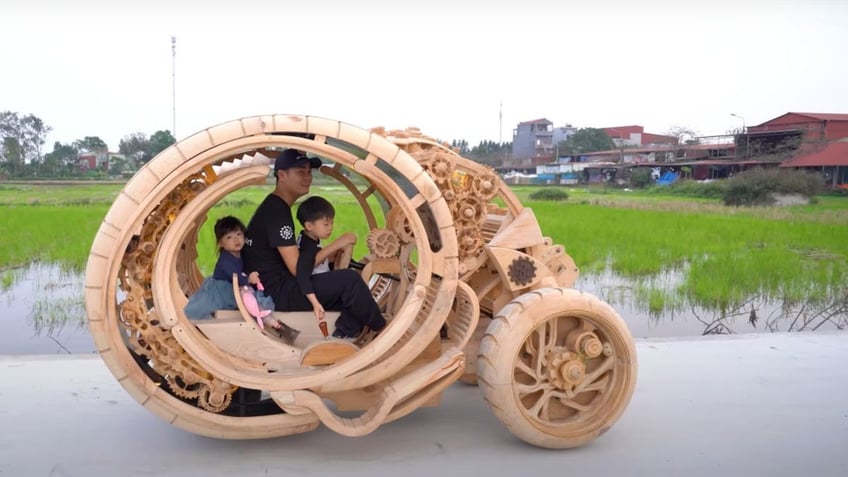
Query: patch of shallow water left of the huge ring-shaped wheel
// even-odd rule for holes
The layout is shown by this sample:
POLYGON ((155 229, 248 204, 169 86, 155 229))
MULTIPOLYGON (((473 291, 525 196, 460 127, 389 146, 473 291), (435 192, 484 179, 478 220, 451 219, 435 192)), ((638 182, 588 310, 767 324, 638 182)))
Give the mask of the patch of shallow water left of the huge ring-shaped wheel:
POLYGON ((34 264, 0 276, 0 354, 94 353, 82 274, 34 264))

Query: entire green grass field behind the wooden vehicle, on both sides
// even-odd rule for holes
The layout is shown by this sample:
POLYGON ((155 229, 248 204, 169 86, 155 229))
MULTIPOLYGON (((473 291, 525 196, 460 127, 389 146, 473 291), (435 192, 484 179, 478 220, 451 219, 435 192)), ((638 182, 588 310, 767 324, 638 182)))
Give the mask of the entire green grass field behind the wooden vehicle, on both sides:
MULTIPOLYGON (((121 187, 0 183, 0 271, 32 262, 82 271, 100 222, 121 187)), ((565 246, 584 275, 610 269, 627 277, 637 304, 652 312, 687 302, 729 309, 752 295, 787 302, 827 301, 846 291, 848 198, 820 197, 815 205, 784 208, 735 208, 718 199, 662 191, 573 188, 567 201, 530 200, 538 189, 513 190, 533 209, 543 233, 565 246)), ((210 211, 197 246, 204 273, 211 273, 215 261, 214 221, 235 215, 247 223, 269 191, 242 189, 210 211)), ((334 204, 335 235, 355 232, 360 237, 355 256, 363 255, 367 227, 353 198, 343 187, 320 182, 312 193, 334 204)), ((0 284, 8 286, 8 280, 4 273, 0 284)))

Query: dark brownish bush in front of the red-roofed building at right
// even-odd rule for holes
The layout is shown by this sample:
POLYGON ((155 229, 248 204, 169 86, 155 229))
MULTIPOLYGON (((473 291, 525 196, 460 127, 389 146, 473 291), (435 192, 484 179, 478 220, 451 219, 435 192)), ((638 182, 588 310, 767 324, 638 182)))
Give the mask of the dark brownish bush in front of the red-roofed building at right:
POLYGON ((794 170, 749 169, 727 180, 725 205, 771 205, 772 194, 800 194, 811 198, 823 190, 818 174, 794 170))

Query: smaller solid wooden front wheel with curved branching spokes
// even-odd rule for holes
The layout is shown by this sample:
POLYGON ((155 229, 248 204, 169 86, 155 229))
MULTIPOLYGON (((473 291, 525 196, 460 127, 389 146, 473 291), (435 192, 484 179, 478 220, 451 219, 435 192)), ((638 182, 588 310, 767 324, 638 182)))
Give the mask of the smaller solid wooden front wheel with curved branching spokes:
POLYGON ((541 447, 576 447, 627 407, 636 351, 609 305, 545 288, 498 313, 481 342, 477 372, 486 401, 513 434, 541 447))

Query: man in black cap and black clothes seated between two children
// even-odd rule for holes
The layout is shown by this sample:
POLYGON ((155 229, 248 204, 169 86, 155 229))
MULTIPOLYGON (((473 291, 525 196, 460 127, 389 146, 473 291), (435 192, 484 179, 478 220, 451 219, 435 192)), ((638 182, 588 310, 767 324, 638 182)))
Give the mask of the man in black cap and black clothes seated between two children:
MULTIPOLYGON (((320 166, 317 157, 309 158, 296 149, 283 151, 274 161, 274 191, 259 204, 247 225, 242 249, 245 270, 259 272, 265 294, 274 299, 278 311, 313 310, 295 278, 299 252, 291 207, 309 193, 312 169, 320 166)), ((323 261, 347 244, 337 242, 336 247, 322 249, 316 261, 323 261)), ((334 337, 355 339, 365 326, 380 331, 386 325, 368 286, 356 271, 333 270, 313 275, 312 287, 324 309, 341 312, 334 337)), ((323 310, 316 311, 319 312, 323 310)))

